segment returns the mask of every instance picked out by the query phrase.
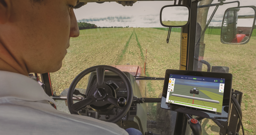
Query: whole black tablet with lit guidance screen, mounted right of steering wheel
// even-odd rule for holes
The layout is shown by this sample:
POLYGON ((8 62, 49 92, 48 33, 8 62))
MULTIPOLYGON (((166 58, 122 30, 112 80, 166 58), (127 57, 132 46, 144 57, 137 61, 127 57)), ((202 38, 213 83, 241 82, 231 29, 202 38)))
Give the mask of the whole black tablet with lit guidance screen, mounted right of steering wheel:
POLYGON ((166 70, 161 107, 226 121, 231 82, 229 73, 166 70))

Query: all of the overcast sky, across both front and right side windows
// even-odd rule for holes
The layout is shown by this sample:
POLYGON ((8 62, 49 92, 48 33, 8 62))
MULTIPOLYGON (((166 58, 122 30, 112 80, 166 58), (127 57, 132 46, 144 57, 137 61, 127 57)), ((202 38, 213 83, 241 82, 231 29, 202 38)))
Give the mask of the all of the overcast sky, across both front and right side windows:
MULTIPOLYGON (((234 0, 226 0, 231 2, 234 0)), ((74 10, 78 22, 92 23, 97 26, 122 26, 126 27, 163 27, 160 24, 160 10, 165 5, 173 5, 174 1, 137 1, 133 6, 122 6, 116 2, 105 2, 98 4, 95 2, 87 3, 79 9, 74 10)), ((214 0, 213 3, 219 3, 214 0)), ((255 0, 240 0, 240 6, 254 5, 255 0)), ((237 3, 225 4, 219 6, 215 16, 209 26, 221 26, 224 12, 229 7, 236 7, 237 3)), ((210 7, 208 18, 215 7, 210 7)), ((170 11, 170 15, 174 16, 175 20, 184 20, 183 15, 178 10, 170 11)), ((248 20, 243 21, 244 25, 248 20)))

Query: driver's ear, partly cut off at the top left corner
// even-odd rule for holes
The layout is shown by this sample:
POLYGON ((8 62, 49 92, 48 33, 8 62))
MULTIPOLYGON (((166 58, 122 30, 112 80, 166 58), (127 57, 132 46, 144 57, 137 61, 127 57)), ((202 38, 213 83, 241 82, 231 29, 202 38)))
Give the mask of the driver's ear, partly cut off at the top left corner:
POLYGON ((0 24, 6 23, 10 18, 11 0, 0 0, 0 24))

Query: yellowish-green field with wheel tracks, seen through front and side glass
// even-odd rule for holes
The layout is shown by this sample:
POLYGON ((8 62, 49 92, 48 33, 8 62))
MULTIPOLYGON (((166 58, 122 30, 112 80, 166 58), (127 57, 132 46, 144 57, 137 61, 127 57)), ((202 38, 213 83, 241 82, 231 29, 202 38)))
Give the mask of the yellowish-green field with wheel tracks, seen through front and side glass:
MULTIPOLYGON (((172 28, 172 30, 175 29, 172 28)), ((50 74, 52 88, 58 95, 69 87, 81 71, 94 65, 130 63, 144 68, 146 50, 146 76, 164 77, 166 69, 179 69, 180 64, 181 34, 171 32, 170 41, 167 44, 167 32, 168 28, 167 31, 154 28, 80 30, 79 37, 70 39, 70 47, 62 62, 62 68, 50 74)), ((241 105, 243 124, 253 132, 256 132, 255 43, 256 37, 251 37, 249 43, 244 45, 227 45, 220 42, 220 35, 205 34, 204 36, 204 60, 211 66, 229 67, 229 73, 233 74, 232 88, 243 92, 241 105)), ((207 67, 203 65, 202 71, 206 69, 207 67)), ((87 78, 84 77, 77 87, 86 88, 86 86, 87 78)), ((163 81, 147 80, 148 97, 158 98, 162 89, 163 81)), ((149 112, 150 110, 154 108, 149 108, 149 112)), ((154 117, 154 115, 149 116, 154 117)))

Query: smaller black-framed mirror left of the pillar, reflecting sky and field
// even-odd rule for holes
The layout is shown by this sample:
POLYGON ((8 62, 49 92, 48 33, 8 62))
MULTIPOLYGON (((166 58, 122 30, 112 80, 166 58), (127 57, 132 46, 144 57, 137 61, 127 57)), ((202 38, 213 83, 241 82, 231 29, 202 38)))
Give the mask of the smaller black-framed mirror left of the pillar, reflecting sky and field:
POLYGON ((165 27, 183 27, 190 20, 190 8, 187 5, 167 5, 160 11, 160 23, 165 27))

